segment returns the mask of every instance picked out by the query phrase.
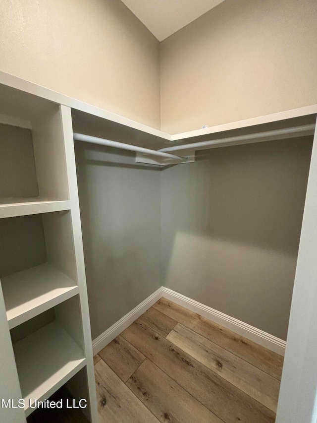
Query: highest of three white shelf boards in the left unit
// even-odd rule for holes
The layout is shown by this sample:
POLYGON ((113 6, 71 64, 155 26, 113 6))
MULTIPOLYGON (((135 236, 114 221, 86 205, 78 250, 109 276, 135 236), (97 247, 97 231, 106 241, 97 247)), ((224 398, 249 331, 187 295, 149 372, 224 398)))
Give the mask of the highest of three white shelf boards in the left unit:
POLYGON ((70 210, 69 200, 47 197, 0 198, 0 219, 61 210, 70 210))

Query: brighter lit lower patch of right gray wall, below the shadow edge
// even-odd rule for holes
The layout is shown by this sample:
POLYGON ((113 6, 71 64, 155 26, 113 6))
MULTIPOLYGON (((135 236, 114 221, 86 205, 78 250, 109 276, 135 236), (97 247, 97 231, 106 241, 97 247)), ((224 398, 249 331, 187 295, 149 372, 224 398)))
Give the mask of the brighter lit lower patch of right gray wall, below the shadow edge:
POLYGON ((177 232, 165 286, 286 339, 296 259, 177 232))

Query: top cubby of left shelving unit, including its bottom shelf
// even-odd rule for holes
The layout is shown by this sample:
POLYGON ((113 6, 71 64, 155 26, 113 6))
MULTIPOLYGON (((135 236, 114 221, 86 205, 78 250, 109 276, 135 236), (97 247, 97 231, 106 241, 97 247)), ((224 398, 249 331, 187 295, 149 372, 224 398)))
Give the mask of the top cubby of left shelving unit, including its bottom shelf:
POLYGON ((70 209, 59 108, 31 112, 0 122, 0 218, 70 209))

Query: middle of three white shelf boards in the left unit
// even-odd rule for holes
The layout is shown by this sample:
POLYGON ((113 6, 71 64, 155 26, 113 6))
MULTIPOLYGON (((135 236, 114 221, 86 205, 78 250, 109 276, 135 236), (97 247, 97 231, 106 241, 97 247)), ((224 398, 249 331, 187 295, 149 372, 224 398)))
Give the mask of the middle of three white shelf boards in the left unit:
POLYGON ((1 278, 9 328, 79 293, 76 282, 50 263, 1 278))

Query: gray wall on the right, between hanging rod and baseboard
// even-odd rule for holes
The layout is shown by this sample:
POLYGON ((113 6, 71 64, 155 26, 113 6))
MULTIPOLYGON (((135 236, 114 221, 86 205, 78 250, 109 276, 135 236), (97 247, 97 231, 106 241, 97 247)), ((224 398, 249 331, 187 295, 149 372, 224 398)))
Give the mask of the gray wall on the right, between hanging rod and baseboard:
POLYGON ((163 285, 286 339, 311 148, 216 148, 165 169, 163 285))

